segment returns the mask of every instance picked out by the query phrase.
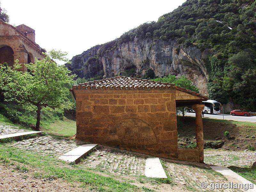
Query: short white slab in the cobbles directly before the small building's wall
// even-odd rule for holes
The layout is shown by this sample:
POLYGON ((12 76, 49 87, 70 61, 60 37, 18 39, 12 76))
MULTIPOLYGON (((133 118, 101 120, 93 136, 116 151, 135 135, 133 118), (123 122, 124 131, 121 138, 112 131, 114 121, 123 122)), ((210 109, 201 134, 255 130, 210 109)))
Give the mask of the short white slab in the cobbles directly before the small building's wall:
POLYGON ((167 178, 164 168, 158 157, 146 159, 145 176, 152 178, 167 178))

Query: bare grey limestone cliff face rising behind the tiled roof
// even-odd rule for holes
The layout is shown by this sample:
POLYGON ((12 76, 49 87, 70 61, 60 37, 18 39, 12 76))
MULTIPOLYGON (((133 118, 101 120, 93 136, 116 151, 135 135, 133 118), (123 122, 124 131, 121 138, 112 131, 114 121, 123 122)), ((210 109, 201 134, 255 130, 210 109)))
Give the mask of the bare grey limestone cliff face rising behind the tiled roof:
POLYGON ((81 78, 97 75, 112 77, 124 71, 143 78, 145 71, 151 68, 158 77, 185 75, 200 89, 201 94, 208 94, 203 61, 206 54, 196 47, 185 48, 176 41, 153 41, 150 38, 134 38, 133 41, 118 44, 116 49, 99 54, 102 47, 97 45, 76 55, 66 66, 81 78))

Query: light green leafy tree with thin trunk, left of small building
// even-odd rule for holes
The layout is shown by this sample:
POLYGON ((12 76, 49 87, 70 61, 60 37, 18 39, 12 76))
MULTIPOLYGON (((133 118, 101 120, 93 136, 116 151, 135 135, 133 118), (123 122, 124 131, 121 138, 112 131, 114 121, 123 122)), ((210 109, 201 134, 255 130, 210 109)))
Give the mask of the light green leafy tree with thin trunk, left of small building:
POLYGON ((67 53, 52 50, 43 54, 45 58, 35 64, 25 64, 28 72, 21 72, 19 61, 13 68, 7 63, 0 64, 0 88, 4 90, 6 101, 16 100, 29 111, 37 113, 36 130, 39 130, 42 110, 63 111, 69 108, 64 99, 69 94, 65 83, 72 82, 74 75, 64 66, 58 66, 54 60, 68 62, 67 53))

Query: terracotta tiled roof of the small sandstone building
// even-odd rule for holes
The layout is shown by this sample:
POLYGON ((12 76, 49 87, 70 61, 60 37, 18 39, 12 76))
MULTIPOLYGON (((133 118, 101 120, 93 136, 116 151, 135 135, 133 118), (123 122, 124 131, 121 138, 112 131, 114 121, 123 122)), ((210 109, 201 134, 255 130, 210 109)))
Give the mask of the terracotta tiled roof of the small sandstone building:
POLYGON ((74 89, 177 89, 182 92, 196 95, 202 99, 208 99, 208 97, 204 95, 176 86, 175 84, 150 81, 147 79, 137 79, 126 76, 116 76, 112 78, 73 85, 70 91, 74 89))

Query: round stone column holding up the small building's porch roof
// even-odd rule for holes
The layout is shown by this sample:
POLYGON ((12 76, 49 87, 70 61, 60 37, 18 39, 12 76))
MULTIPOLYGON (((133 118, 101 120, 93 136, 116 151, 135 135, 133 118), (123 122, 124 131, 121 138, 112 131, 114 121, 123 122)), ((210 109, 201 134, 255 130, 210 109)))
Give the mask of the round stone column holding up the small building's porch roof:
POLYGON ((204 105, 192 105, 192 109, 196 112, 196 147, 199 150, 199 162, 204 163, 204 132, 202 121, 204 105))

